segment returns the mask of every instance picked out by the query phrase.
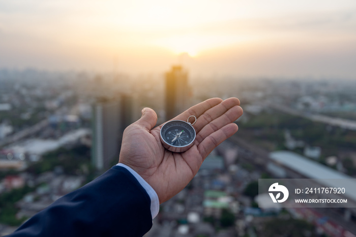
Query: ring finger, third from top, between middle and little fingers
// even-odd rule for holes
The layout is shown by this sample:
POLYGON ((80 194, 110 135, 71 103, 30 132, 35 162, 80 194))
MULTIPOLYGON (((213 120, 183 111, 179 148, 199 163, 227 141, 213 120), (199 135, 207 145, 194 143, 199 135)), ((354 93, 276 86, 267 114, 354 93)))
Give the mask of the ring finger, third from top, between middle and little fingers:
POLYGON ((207 125, 205 125, 196 135, 196 141, 201 143, 207 136, 213 132, 219 130, 223 126, 234 122, 243 114, 243 110, 240 106, 234 106, 226 111, 220 117, 214 119, 207 125))

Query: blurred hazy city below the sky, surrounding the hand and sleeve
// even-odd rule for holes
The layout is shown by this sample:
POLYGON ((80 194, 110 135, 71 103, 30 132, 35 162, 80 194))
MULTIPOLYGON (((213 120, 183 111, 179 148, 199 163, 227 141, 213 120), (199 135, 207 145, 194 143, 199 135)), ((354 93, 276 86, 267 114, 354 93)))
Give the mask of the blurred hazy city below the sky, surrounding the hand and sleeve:
POLYGON ((353 208, 269 209, 256 199, 262 178, 356 177, 354 88, 337 78, 192 77, 180 64, 141 75, 2 69, 0 235, 115 165, 142 108, 159 125, 207 98, 238 97, 239 131, 160 206, 145 236, 356 236, 353 208))

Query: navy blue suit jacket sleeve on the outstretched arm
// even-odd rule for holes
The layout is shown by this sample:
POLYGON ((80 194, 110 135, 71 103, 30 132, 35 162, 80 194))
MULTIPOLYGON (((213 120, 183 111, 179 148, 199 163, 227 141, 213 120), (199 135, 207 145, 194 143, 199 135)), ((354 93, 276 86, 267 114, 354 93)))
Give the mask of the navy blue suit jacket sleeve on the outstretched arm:
POLYGON ((7 236, 142 236, 152 227, 150 205, 135 177, 126 168, 113 166, 7 236))

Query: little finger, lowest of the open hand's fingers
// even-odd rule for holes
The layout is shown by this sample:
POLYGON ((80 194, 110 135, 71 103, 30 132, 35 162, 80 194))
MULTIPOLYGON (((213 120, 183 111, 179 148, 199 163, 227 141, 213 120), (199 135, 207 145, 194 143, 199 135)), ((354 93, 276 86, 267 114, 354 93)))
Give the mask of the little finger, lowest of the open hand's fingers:
POLYGON ((199 145, 198 151, 203 159, 210 154, 220 143, 231 137, 236 131, 238 131, 238 125, 235 123, 229 123, 219 130, 211 133, 207 136, 199 145))

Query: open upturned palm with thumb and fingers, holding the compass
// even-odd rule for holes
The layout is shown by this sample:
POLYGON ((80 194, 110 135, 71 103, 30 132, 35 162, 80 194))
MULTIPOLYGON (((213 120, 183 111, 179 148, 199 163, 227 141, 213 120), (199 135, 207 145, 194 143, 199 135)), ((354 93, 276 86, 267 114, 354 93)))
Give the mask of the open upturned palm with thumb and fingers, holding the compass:
POLYGON ((128 126, 123 135, 120 163, 137 172, 156 191, 160 204, 179 193, 196 175, 207 155, 238 131, 233 123, 243 114, 238 98, 211 98, 175 117, 186 121, 197 118, 194 145, 182 153, 162 146, 154 110, 144 108, 139 120, 128 126))

